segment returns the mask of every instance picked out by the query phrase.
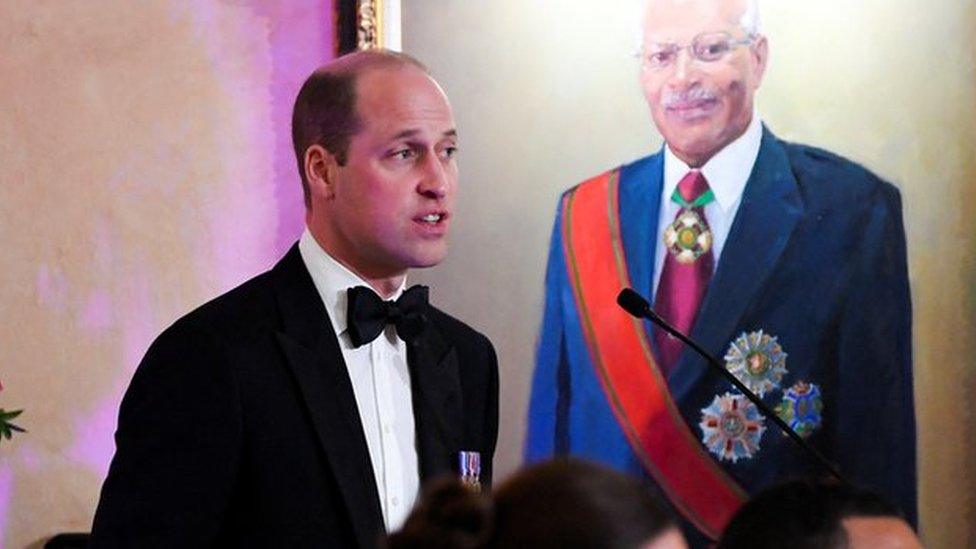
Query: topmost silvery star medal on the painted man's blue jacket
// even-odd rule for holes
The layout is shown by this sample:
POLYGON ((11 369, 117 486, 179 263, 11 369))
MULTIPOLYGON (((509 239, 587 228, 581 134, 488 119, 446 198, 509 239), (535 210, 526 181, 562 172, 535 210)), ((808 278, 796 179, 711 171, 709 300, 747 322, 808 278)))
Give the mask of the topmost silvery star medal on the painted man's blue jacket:
POLYGON ((725 367, 760 397, 779 387, 786 374, 786 353, 769 334, 743 333, 729 345, 725 367))

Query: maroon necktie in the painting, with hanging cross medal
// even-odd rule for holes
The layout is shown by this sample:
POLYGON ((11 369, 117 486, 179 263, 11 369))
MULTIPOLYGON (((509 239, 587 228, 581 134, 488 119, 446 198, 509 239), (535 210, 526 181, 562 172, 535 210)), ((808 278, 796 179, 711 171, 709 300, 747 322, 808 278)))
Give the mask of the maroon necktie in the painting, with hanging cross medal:
MULTIPOLYGON (((712 278, 715 258, 705 206, 715 200, 705 176, 688 172, 671 195, 681 209, 664 231, 667 257, 654 296, 654 310, 684 334, 691 334, 698 308, 712 278)), ((659 364, 665 376, 677 365, 683 343, 655 326, 659 364)))

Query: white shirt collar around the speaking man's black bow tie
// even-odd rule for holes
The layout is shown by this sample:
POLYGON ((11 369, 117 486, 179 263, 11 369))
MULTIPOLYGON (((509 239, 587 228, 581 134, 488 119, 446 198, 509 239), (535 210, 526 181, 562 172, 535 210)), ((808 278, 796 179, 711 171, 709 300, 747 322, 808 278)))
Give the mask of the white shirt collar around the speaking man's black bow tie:
MULTIPOLYGON (((312 282, 315 289, 322 297, 325 304, 325 311, 332 320, 332 327, 335 328, 336 335, 341 335, 346 331, 346 296, 349 288, 355 286, 366 286, 372 288, 368 282, 356 273, 352 272, 337 259, 329 255, 322 249, 308 228, 298 239, 298 251, 305 262, 305 268, 312 275, 312 282)), ((390 299, 397 299, 406 287, 407 279, 397 288, 390 299)))

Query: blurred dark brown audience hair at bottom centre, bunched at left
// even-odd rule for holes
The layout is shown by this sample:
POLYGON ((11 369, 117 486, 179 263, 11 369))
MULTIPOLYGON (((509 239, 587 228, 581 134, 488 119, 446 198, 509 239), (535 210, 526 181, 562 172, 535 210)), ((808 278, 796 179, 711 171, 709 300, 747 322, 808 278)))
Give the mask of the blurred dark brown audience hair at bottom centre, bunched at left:
POLYGON ((516 473, 482 496, 457 481, 432 485, 389 549, 638 549, 674 528, 633 478, 579 460, 516 473))

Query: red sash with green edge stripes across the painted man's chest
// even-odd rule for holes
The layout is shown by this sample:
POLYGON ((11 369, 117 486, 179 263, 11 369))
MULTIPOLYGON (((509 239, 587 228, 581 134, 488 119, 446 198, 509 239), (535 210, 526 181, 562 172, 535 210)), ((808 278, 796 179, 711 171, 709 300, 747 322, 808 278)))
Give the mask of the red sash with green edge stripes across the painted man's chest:
POLYGON ((612 171, 586 181, 562 204, 566 266, 583 332, 634 453, 681 514, 718 539, 747 496, 685 423, 641 321, 617 306, 617 294, 630 286, 617 218, 618 179, 612 171))

